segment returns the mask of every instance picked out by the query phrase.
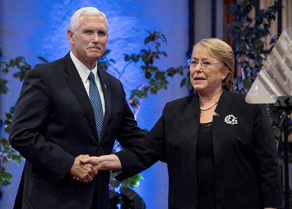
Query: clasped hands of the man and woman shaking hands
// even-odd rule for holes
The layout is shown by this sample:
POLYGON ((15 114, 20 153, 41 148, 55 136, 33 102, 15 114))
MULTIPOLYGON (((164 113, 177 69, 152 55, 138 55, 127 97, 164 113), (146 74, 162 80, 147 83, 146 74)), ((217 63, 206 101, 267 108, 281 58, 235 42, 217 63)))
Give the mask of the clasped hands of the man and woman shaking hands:
POLYGON ((121 163, 115 154, 100 157, 81 154, 75 158, 69 174, 73 179, 87 183, 92 181, 98 171, 120 171, 121 169, 121 163))

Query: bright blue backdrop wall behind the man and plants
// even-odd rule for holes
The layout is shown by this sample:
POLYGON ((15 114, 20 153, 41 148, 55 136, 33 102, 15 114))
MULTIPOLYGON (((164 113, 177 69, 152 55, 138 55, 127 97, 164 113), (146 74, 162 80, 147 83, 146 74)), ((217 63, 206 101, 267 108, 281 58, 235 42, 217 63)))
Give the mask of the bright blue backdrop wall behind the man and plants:
MULTIPOLYGON (((186 65, 188 46, 188 0, 1 0, 0 1, 0 47, 1 60, 8 61, 23 56, 34 66, 40 56, 48 61, 63 57, 69 50, 66 31, 70 17, 81 7, 94 6, 108 18, 109 39, 107 49, 112 50, 109 58, 117 61, 118 69, 125 66, 123 54, 139 53, 145 48, 147 31, 161 31, 167 38, 162 50, 168 54, 156 62, 162 70, 186 65)), ((127 97, 142 80, 140 64, 127 67, 120 78, 127 97)), ((0 95, 0 119, 17 101, 21 82, 12 78, 12 73, 1 75, 8 80, 8 94, 0 95)), ((140 127, 151 129, 161 116, 166 102, 185 96, 188 90, 180 88, 181 76, 170 79, 168 90, 149 95, 143 100, 137 121, 140 127)), ((7 135, 0 131, 1 137, 7 135)), ((9 186, 1 187, 1 209, 12 209, 24 163, 5 165, 13 175, 9 186)), ((167 209, 167 167, 158 162, 143 172, 144 180, 136 192, 144 199, 147 209, 167 209)))

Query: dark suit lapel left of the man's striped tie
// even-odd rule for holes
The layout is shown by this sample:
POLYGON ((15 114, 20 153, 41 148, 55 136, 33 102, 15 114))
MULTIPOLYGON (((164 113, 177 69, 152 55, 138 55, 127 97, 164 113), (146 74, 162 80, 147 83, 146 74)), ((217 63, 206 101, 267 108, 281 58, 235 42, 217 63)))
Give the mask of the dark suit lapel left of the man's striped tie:
POLYGON ((64 62, 64 70, 68 74, 65 77, 65 79, 67 80, 70 88, 72 89, 72 91, 76 95, 77 99, 79 100, 80 104, 82 105, 82 107, 87 115, 91 129, 94 133, 94 136, 95 136, 96 140, 98 140, 93 109, 92 109, 88 94, 84 88, 84 84, 82 83, 82 80, 80 78, 80 75, 79 75, 73 61, 71 60, 70 53, 68 53, 63 58, 63 62, 64 62))

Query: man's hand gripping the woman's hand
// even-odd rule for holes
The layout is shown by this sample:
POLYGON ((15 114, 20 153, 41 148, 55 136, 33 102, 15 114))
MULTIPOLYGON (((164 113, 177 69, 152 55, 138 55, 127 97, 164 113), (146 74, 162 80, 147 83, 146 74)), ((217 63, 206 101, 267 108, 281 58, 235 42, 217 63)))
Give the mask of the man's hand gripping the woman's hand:
POLYGON ((81 154, 75 158, 75 161, 69 170, 69 174, 73 176, 74 179, 80 180, 84 183, 92 181, 93 177, 97 174, 97 170, 90 164, 80 163, 80 159, 89 157, 88 154, 81 154))

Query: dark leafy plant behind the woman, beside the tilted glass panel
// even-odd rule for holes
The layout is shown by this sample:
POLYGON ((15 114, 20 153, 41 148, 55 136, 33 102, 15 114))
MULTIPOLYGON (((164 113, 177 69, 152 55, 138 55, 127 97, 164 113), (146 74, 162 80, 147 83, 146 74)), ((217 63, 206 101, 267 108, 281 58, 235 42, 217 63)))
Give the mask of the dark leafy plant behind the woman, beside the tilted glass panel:
MULTIPOLYGON (((274 5, 265 10, 259 9, 257 0, 236 0, 231 5, 229 13, 233 16, 233 22, 225 27, 225 32, 229 31, 229 35, 233 37, 235 61, 241 71, 241 74, 234 79, 234 91, 248 92, 263 66, 263 60, 266 60, 273 49, 278 36, 271 37, 268 49, 266 41, 270 34, 271 23, 276 19, 276 13, 280 8, 282 5, 279 0, 275 0, 274 5), (253 11, 256 15, 251 18, 253 11)), ((276 109, 273 104, 265 106, 277 140, 280 164, 282 165, 284 149, 281 121, 284 111, 276 109)))

